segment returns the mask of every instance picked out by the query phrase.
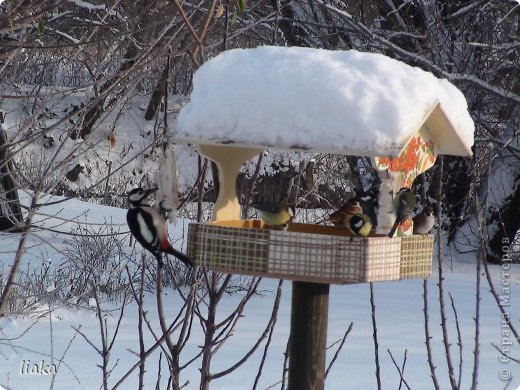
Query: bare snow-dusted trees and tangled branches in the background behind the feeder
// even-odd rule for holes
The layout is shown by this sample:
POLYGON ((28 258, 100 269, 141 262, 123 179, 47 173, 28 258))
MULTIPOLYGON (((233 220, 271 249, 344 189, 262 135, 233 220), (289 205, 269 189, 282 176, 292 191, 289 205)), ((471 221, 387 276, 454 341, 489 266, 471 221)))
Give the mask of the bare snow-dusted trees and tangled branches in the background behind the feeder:
MULTIPOLYGON (((457 228, 472 215, 472 197, 487 188, 491 251, 497 252, 504 235, 510 242, 515 238, 520 83, 519 7, 514 1, 33 1, 5 2, 1 7, 3 106, 13 94, 25 95, 18 133, 30 129, 31 142, 47 149, 59 148, 57 138, 124 136, 119 121, 135 110, 135 99, 129 102, 137 96, 145 110, 144 115, 138 113, 140 119, 156 121, 158 136, 171 126, 160 114, 164 96, 188 94, 193 70, 233 47, 275 44, 377 51, 447 78, 466 95, 477 127, 475 159, 445 159, 449 238, 458 241, 457 228), (59 94, 49 91, 51 86, 60 88, 59 94), (74 95, 76 103, 68 99, 69 107, 60 107, 59 100, 64 102, 67 95, 74 95)), ((178 107, 168 109, 175 115, 178 107)), ((19 135, 12 142, 26 138, 19 135)), ((350 169, 352 162, 326 164, 338 167, 339 178, 348 178, 356 173, 350 169)), ((61 165, 62 175, 72 182, 94 169, 74 158, 61 165)), ((319 169, 319 164, 312 169, 318 181, 319 169)), ((428 174, 425 184, 435 172, 428 174)), ((257 183, 260 192, 263 181, 261 177, 257 183)), ((329 198, 331 206, 348 196, 342 190, 356 187, 355 180, 347 182, 335 189, 335 180, 328 179, 330 185, 322 186, 336 194, 329 198)), ((85 191, 62 177, 55 187, 85 191)), ((427 185, 422 191, 432 197, 427 185)), ((281 192, 289 196, 286 188, 281 192)), ((324 206, 315 192, 304 193, 312 199, 299 199, 302 205, 324 206)))

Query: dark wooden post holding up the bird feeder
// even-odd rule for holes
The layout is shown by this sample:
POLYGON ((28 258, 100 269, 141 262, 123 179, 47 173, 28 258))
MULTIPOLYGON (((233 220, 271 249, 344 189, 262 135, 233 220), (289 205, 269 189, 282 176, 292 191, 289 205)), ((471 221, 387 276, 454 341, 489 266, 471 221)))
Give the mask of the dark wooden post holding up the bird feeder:
POLYGON ((289 390, 323 390, 329 285, 293 282, 289 390))

